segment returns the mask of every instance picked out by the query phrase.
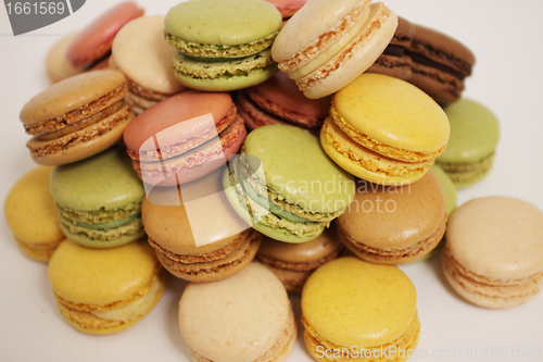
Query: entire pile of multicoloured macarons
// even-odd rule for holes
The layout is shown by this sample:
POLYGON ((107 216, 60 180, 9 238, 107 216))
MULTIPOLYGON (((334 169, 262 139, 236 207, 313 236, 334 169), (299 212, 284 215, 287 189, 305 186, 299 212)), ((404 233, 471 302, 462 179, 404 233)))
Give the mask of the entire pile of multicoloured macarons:
POLYGON ((132 326, 171 274, 190 282, 178 315, 193 361, 285 361, 296 319, 328 361, 416 348, 417 294, 396 265, 440 246, 476 305, 543 286, 541 210, 456 208, 500 138, 462 97, 475 55, 383 3, 189 0, 146 16, 124 2, 46 61, 53 84, 20 113, 39 166, 4 211, 83 333, 132 326))

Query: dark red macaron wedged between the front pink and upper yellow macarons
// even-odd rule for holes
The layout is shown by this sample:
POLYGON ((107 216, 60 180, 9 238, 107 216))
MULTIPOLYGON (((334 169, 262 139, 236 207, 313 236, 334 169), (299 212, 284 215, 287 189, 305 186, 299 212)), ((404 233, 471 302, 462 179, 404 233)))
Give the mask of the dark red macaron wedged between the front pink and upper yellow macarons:
POLYGON ((323 125, 330 110, 330 97, 305 97, 287 73, 279 72, 260 85, 241 89, 236 104, 251 129, 268 124, 314 128, 323 125))

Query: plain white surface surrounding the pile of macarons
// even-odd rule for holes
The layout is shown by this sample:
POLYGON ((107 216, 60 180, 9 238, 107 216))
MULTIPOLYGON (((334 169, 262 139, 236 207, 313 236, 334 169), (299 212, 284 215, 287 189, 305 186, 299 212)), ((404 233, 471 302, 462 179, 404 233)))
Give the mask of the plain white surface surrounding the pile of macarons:
MULTIPOLYGON (((543 209, 543 1, 383 0, 412 22, 462 40, 477 55, 465 96, 491 108, 502 123, 496 163, 483 182, 459 192, 459 204, 481 196, 505 195, 543 209)), ((45 55, 61 34, 79 28, 113 1, 87 0, 74 15, 29 35, 13 37, 0 5, 0 199, 34 166, 18 121, 23 104, 47 87, 45 55), (52 36, 56 35, 56 36, 52 36)), ((165 14, 176 1, 139 1, 148 14, 165 14)), ((177 302, 185 283, 171 277, 163 300, 136 326, 111 336, 76 332, 60 315, 47 266, 26 259, 0 217, 0 360, 2 361, 189 361, 177 327, 177 302)), ((31 222, 31 221, 29 221, 31 222)), ((542 242, 543 242, 543 236, 542 242)), ((473 307, 445 284, 441 261, 402 266, 418 292, 421 322, 418 349, 409 361, 543 361, 520 358, 543 348, 543 296, 510 310, 473 307), (477 358, 475 358, 477 349, 477 358), (503 358, 492 358, 492 351, 503 358), (455 351, 457 350, 457 351, 455 351), (467 351, 471 351, 468 355, 467 351), (442 358, 432 359, 437 351, 442 358), (515 352, 515 354, 513 354, 515 352), (456 353, 456 355, 452 355, 456 353), (445 357, 451 354, 450 357, 445 357)), ((299 299, 293 298, 298 317, 299 299)), ((312 361, 300 338, 288 361, 312 361)))

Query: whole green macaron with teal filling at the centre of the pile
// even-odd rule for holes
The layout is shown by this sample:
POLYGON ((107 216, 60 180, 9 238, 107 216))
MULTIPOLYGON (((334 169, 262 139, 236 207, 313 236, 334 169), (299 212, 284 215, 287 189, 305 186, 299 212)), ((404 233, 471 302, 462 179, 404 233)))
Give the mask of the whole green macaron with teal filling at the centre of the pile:
POLYGON ((354 179, 305 129, 269 125, 251 132, 241 155, 229 161, 228 201, 262 234, 304 242, 341 215, 355 194, 354 179))

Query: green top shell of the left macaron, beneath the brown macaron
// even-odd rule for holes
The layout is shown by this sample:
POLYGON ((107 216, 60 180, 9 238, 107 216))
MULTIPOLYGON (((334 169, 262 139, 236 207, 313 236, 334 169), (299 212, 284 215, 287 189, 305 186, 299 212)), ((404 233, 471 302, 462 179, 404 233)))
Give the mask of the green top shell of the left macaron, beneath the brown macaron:
POLYGON ((122 209, 141 202, 143 185, 121 148, 111 148, 92 158, 58 166, 51 174, 50 190, 61 207, 77 211, 122 209))

